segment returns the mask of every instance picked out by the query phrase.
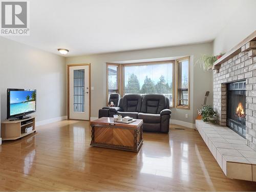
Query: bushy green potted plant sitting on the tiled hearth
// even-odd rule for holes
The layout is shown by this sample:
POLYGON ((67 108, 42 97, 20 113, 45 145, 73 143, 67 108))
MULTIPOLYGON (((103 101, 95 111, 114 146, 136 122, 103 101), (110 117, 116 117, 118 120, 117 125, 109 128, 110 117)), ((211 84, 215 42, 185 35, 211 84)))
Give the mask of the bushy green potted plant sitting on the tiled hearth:
POLYGON ((205 123, 211 123, 215 124, 216 123, 216 112, 210 105, 203 105, 199 110, 198 114, 202 116, 202 120, 205 123))

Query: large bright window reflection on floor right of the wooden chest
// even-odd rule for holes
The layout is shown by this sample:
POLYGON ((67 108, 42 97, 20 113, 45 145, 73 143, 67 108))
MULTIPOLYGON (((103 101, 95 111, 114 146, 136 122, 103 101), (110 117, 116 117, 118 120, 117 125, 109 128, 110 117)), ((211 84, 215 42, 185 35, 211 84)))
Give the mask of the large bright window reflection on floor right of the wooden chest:
POLYGON ((171 140, 164 145, 155 143, 158 144, 159 150, 152 152, 150 148, 145 148, 146 143, 144 143, 140 173, 189 181, 188 144, 175 143, 171 140))

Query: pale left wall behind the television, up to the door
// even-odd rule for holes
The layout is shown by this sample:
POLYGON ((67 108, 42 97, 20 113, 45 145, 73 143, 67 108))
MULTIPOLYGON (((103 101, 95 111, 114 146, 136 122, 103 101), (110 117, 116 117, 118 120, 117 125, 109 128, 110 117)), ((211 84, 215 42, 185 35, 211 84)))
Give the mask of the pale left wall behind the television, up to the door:
POLYGON ((36 121, 66 116, 65 57, 0 37, 1 120, 7 88, 36 89, 36 121))

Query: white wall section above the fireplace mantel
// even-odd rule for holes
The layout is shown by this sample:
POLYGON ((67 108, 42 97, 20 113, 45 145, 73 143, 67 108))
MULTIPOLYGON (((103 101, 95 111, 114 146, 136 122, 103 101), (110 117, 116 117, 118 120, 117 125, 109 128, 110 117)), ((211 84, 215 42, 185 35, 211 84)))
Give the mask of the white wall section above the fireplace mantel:
POLYGON ((226 53, 256 30, 256 1, 240 2, 229 23, 214 40, 214 54, 226 53))

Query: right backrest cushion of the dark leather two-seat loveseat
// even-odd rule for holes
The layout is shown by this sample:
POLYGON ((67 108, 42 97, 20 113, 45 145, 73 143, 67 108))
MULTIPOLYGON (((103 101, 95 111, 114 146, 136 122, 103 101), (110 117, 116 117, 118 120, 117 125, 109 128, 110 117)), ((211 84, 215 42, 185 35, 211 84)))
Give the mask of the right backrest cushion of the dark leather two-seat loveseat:
POLYGON ((160 114, 163 109, 166 109, 166 97, 164 95, 144 95, 141 105, 142 113, 160 114))

